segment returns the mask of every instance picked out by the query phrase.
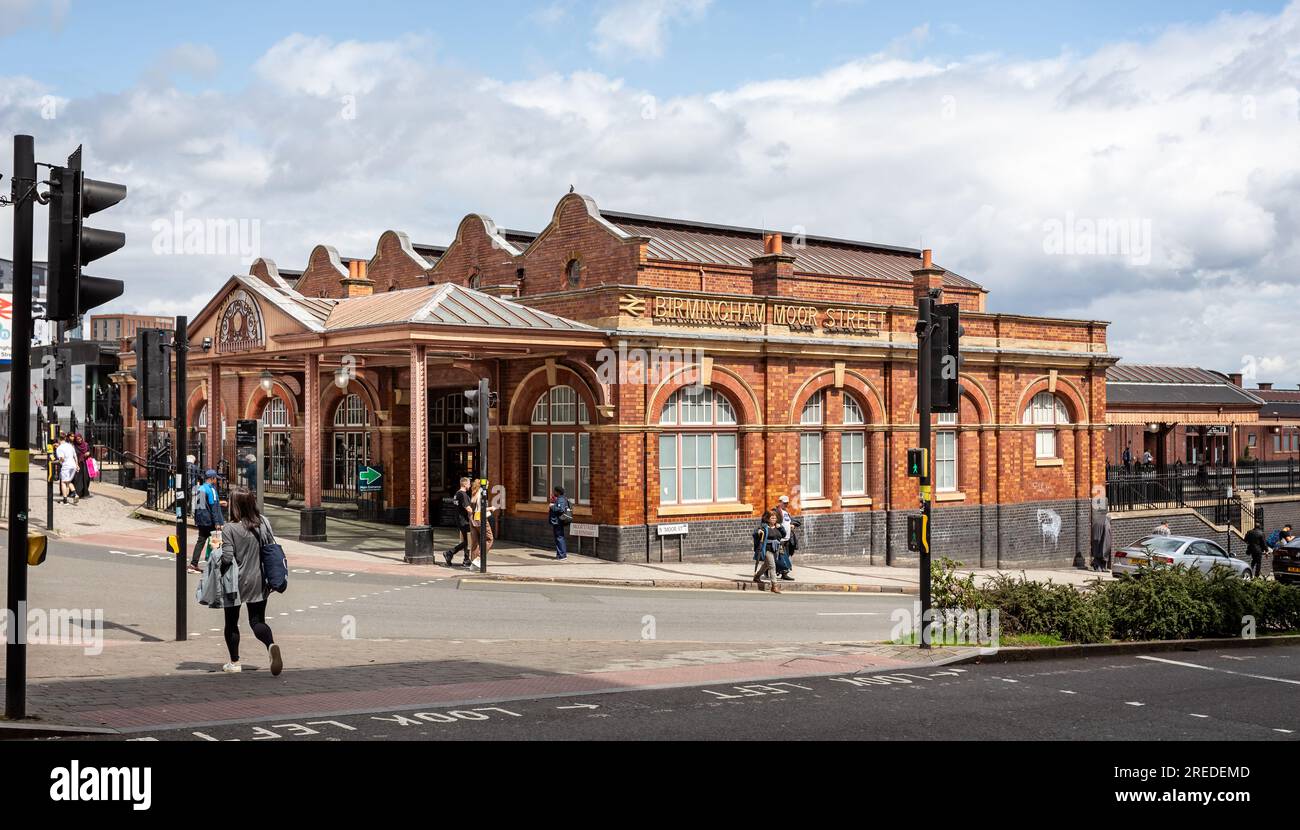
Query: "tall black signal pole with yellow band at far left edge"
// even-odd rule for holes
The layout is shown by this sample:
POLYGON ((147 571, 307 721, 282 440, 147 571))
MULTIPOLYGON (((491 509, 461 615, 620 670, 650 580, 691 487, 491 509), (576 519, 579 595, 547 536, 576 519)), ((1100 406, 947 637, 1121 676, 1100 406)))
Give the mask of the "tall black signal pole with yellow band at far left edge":
POLYGON ((36 146, 30 135, 13 137, 13 353, 9 362, 9 619, 5 643, 4 714, 27 717, 27 496, 31 468, 31 232, 36 199, 36 146))

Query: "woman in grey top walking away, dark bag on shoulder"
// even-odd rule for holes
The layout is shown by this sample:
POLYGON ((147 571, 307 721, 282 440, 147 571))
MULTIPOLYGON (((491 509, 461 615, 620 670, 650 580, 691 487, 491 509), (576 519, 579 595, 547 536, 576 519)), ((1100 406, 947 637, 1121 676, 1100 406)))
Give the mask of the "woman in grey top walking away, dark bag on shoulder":
MULTIPOLYGON (((273 542, 274 535, 270 522, 257 510, 257 496, 246 487, 237 487, 230 492, 230 522, 221 532, 221 559, 220 569, 225 574, 231 563, 239 569, 239 596, 234 605, 225 608, 226 613, 226 649, 230 652, 230 662, 221 667, 222 671, 240 671, 239 663, 239 606, 248 606, 248 627, 270 656, 270 674, 278 675, 283 669, 283 660, 280 647, 266 624, 266 578, 261 569, 261 548, 273 542)), ((211 565, 209 565, 211 567, 211 565)))

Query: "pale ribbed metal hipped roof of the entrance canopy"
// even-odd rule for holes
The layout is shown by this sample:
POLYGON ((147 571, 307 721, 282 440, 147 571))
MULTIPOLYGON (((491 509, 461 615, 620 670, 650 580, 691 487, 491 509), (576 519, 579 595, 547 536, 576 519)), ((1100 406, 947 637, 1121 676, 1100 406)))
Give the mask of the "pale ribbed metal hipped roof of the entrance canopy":
POLYGON ((400 323, 528 328, 546 330, 599 330, 584 323, 538 311, 508 299, 443 282, 400 291, 335 301, 325 320, 329 330, 400 323))

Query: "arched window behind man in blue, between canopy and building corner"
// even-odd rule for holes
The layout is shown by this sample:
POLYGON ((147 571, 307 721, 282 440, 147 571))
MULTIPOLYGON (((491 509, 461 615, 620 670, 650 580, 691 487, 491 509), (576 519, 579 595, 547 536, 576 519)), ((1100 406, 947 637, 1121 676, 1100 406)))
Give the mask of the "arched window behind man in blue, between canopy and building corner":
POLYGON ((586 503, 592 500, 592 436, 586 401, 572 386, 554 386, 533 405, 529 497, 546 501, 556 487, 586 503))

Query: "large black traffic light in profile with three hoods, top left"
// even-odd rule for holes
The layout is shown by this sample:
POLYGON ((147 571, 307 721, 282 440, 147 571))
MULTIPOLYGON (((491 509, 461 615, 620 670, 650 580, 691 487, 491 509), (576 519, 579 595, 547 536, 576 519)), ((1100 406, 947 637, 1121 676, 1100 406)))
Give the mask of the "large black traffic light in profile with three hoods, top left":
POLYGON ((86 178, 81 147, 68 156, 68 167, 49 169, 47 320, 75 320, 122 295, 121 280, 84 276, 81 269, 126 245, 126 234, 86 228, 82 220, 125 198, 126 185, 86 178))

